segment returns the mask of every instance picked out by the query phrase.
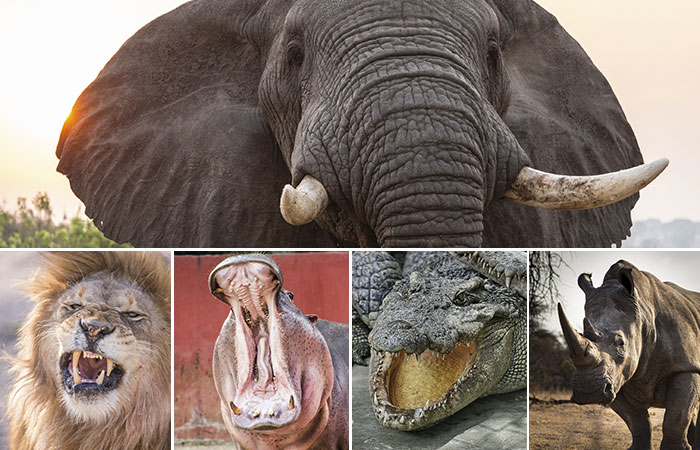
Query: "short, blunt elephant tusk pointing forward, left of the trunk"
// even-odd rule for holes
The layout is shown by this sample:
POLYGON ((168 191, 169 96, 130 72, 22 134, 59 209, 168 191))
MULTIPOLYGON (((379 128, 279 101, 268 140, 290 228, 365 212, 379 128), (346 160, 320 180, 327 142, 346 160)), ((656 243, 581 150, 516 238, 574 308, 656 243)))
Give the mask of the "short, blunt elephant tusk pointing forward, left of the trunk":
POLYGON ((280 212, 290 225, 311 222, 328 206, 328 193, 320 181, 306 175, 295 188, 288 184, 282 189, 280 212))

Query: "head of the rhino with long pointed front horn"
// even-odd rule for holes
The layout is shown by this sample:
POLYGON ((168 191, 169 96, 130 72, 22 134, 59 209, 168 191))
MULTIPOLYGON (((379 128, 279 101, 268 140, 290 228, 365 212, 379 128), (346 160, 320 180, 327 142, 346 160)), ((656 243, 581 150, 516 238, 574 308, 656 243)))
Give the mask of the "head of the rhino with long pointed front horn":
POLYGON ((578 285, 586 295, 583 334, 574 329, 558 305, 561 329, 576 367, 571 397, 574 403, 612 403, 637 370, 644 326, 634 287, 636 270, 626 261, 619 261, 598 288, 593 286, 590 274, 579 276, 578 285))

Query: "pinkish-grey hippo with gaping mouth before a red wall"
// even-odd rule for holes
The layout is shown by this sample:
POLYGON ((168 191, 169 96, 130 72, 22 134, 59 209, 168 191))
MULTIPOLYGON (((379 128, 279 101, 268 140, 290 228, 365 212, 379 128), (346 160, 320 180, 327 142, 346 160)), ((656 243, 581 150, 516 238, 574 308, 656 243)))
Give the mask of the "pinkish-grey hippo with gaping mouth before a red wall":
POLYGON ((209 274, 230 306, 212 373, 239 449, 347 449, 349 327, 304 315, 271 258, 225 259, 209 274))

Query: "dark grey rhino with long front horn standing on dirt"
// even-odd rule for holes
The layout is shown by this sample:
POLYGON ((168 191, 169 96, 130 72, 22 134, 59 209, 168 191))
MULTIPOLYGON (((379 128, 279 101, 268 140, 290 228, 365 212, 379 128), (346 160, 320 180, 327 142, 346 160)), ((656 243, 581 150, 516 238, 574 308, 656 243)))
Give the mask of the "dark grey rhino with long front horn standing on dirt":
POLYGON ((600 287, 589 274, 579 286, 586 295, 582 335, 559 305, 576 365, 572 400, 609 405, 632 433, 632 450, 651 449, 652 406, 666 408, 662 449, 700 448, 700 294, 622 260, 600 287))

